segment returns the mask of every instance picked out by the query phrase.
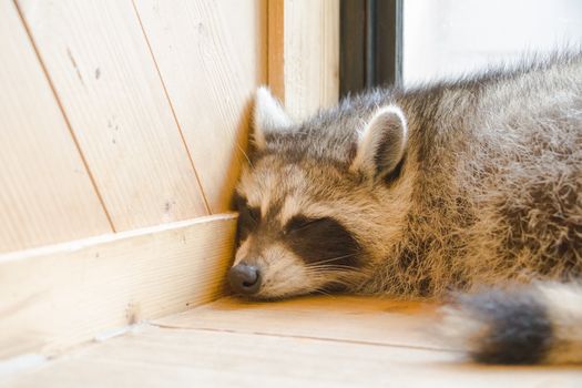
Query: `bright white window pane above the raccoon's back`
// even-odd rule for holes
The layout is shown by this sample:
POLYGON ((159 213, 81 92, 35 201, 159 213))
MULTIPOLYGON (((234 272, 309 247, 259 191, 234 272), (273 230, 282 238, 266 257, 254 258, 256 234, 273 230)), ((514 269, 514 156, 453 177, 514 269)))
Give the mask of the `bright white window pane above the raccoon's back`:
POLYGON ((402 18, 407 85, 582 47, 580 0, 405 0, 402 18))

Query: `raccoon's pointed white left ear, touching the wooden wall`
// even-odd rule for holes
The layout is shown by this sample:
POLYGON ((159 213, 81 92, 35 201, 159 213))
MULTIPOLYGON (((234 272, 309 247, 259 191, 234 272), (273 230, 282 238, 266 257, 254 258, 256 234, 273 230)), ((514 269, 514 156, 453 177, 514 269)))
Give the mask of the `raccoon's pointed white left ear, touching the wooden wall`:
POLYGON ((265 149, 266 134, 284 132, 293 126, 293 121, 287 115, 278 100, 276 100, 266 86, 257 89, 255 94, 255 108, 253 112, 253 130, 255 146, 265 149))

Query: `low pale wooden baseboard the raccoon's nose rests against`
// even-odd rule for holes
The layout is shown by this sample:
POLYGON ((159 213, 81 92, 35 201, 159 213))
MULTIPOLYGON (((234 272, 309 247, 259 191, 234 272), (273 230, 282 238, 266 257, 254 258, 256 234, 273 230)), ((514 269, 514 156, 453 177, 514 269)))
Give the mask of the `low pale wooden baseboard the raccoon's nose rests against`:
POLYGON ((0 256, 0 359, 53 355, 215 299, 235 221, 223 214, 0 256))

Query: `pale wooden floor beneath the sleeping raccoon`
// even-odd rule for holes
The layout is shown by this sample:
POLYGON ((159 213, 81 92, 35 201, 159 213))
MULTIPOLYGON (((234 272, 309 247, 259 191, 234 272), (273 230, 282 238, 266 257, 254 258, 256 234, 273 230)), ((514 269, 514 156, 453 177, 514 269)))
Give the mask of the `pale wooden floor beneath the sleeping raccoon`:
POLYGON ((371 298, 223 298, 101 336, 0 386, 582 387, 581 367, 468 364, 430 335, 436 318, 430 305, 371 298))

